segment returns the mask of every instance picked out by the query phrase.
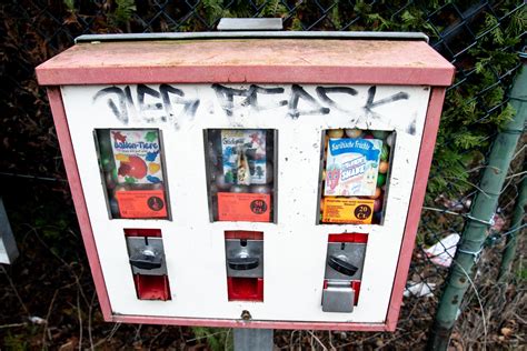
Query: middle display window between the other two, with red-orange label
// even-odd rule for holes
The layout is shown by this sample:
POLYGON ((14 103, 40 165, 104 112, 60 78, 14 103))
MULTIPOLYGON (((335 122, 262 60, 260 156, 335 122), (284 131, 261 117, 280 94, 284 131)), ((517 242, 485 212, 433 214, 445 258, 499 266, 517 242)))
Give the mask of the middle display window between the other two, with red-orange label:
POLYGON ((270 129, 205 130, 211 221, 276 222, 276 140, 270 129))

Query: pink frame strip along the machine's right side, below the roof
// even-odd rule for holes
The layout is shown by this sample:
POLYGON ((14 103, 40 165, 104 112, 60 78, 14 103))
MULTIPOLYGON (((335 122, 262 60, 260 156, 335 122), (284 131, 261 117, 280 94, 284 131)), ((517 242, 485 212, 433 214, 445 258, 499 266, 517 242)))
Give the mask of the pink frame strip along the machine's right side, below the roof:
POLYGON ((445 88, 434 88, 428 101, 428 110, 426 114, 425 130, 421 139, 421 148, 417 162, 416 178, 414 180, 414 189, 411 191, 410 205, 408 217, 406 219, 405 234, 400 248, 399 262, 396 270, 396 279, 391 290, 390 304, 386 324, 388 331, 395 331, 397 320, 399 319, 400 304, 402 302, 402 293, 405 291, 408 278, 408 269, 410 267, 411 254, 415 247, 417 228, 419 227, 422 202, 425 201, 428 174, 430 172, 431 159, 434 157, 434 148, 436 146, 437 130, 443 110, 443 101, 445 99, 445 88))

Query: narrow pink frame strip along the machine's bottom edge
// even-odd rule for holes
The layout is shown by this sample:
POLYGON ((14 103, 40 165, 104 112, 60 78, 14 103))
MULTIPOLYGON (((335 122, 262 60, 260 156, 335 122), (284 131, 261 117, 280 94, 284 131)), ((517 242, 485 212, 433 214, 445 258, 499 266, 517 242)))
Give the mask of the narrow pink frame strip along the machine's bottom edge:
POLYGON ((309 330, 352 330, 352 331, 388 331, 384 323, 332 323, 332 322, 277 322, 277 321, 241 321, 225 319, 191 319, 146 315, 113 315, 112 322, 166 324, 189 327, 220 328, 255 328, 255 329, 309 329, 309 330))

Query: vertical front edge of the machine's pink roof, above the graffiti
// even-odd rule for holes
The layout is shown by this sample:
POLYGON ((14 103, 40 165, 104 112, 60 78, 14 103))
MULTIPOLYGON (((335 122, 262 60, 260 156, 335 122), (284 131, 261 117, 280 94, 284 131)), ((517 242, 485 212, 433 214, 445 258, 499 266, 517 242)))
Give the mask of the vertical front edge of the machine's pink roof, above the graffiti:
POLYGON ((450 86, 454 69, 397 67, 71 67, 39 69, 42 86, 136 83, 309 83, 450 86), (272 72, 272 73, 271 73, 272 72))

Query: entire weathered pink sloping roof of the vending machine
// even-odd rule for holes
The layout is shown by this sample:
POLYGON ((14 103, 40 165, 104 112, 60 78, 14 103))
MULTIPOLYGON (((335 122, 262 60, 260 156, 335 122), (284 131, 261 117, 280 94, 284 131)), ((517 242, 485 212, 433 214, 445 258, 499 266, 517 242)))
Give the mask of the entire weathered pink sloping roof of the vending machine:
POLYGON ((80 43, 40 64, 40 84, 325 83, 449 86, 426 42, 189 40, 80 43))

